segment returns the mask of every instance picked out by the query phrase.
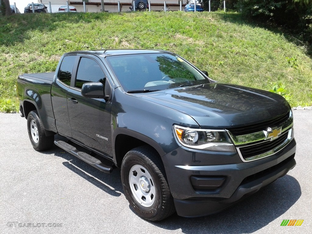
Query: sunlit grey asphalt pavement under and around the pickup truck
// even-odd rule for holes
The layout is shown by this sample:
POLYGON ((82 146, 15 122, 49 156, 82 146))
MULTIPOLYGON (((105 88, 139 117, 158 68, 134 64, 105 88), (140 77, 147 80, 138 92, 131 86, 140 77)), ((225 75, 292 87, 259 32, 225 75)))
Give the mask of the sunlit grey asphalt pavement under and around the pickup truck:
POLYGON ((0 113, 0 233, 312 233, 312 110, 295 110, 297 165, 286 176, 215 215, 161 222, 138 217, 120 170, 102 173, 54 146, 32 148, 27 121, 0 113), (301 226, 280 226, 283 220, 301 226))

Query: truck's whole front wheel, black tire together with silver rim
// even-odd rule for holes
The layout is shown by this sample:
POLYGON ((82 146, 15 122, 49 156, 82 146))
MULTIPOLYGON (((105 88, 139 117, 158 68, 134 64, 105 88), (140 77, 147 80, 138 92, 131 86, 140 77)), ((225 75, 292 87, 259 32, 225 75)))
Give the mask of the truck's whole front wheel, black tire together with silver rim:
POLYGON ((150 221, 160 221, 175 212, 173 197, 170 193, 163 163, 157 155, 154 149, 148 146, 140 146, 130 150, 124 156, 121 165, 121 181, 125 197, 140 217, 150 221), (131 168, 134 169, 131 170, 131 168), (130 184, 129 180, 132 179, 141 179, 141 182, 145 180, 144 183, 147 183, 141 186, 141 182, 139 182, 140 187, 138 187, 134 183, 130 184), (150 190, 145 193, 142 189, 146 189, 148 186, 150 190), (132 192, 135 189, 139 194, 143 194, 141 199, 132 192), (144 197, 145 194, 146 197, 144 197), (146 200, 145 202, 143 197, 146 200), (151 198, 150 202, 149 198, 151 198))

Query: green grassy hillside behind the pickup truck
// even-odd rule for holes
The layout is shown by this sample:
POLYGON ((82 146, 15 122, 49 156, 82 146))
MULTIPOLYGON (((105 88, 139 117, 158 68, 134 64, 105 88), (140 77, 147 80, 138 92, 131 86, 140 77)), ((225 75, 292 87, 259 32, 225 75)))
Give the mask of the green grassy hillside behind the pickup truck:
POLYGON ((100 49, 100 41, 103 48, 173 51, 214 80, 264 90, 285 85, 292 106, 312 105, 304 48, 238 13, 70 13, 0 17, 0 111, 17 110, 18 75, 55 71, 63 53, 100 49))

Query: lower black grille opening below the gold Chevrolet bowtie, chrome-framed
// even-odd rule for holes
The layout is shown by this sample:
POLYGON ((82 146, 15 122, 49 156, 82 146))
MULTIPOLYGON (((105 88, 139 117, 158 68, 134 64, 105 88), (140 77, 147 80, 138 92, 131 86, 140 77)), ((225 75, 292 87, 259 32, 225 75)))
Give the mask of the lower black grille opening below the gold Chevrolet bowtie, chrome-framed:
POLYGON ((246 160, 246 158, 250 158, 256 155, 266 153, 274 149, 275 147, 279 146, 280 144, 282 144, 287 139, 287 137, 288 137, 288 131, 280 135, 280 137, 275 140, 272 140, 272 141, 267 140, 259 144, 241 147, 239 148, 241 152, 241 156, 246 160))

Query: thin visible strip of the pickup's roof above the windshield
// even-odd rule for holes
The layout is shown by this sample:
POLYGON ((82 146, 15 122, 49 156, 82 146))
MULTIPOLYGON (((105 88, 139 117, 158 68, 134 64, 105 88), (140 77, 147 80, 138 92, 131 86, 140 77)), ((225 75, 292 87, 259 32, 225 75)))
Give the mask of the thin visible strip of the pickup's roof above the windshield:
MULTIPOLYGON (((171 53, 164 50, 144 50, 144 49, 102 49, 102 50, 87 50, 87 51, 73 51, 69 53, 88 53, 101 56, 112 55, 128 55, 128 54, 151 54, 151 53, 171 53)), ((68 54, 68 53, 65 53, 68 54)))

